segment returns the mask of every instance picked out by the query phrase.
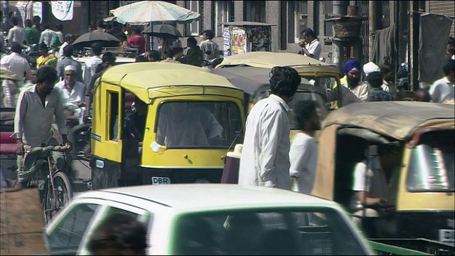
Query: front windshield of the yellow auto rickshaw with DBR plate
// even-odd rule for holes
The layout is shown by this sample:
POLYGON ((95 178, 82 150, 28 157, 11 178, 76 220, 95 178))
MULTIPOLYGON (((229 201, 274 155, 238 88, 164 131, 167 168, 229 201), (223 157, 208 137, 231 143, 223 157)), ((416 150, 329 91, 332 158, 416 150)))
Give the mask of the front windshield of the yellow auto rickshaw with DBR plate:
POLYGON ((228 148, 243 141, 240 110, 233 102, 173 100, 158 112, 156 142, 167 148, 228 148))

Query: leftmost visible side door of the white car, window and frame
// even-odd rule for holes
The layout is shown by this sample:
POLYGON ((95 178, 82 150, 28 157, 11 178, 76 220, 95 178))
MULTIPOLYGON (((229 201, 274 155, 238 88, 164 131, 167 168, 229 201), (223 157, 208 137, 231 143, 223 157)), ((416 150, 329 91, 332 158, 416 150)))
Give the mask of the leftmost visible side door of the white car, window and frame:
POLYGON ((102 207, 102 201, 80 200, 63 210, 45 228, 48 252, 51 255, 76 255, 87 228, 102 207))

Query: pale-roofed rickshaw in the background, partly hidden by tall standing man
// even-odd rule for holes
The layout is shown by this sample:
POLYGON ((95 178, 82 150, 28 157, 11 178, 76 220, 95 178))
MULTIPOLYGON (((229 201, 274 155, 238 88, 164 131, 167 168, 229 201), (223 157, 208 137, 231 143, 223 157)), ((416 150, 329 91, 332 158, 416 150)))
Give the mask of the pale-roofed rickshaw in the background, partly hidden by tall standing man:
MULTIPOLYGON (((289 66, 294 68, 301 75, 301 85, 296 94, 289 102, 292 109, 296 102, 301 100, 314 100, 318 102, 319 117, 325 119, 328 111, 333 110, 333 106, 343 106, 342 97, 331 95, 331 91, 338 91, 337 95, 342 95, 340 85, 340 74, 338 68, 328 65, 314 58, 295 53, 272 53, 272 52, 251 52, 239 55, 232 55, 217 65, 213 73, 223 75, 236 87, 245 92, 245 109, 250 110, 259 100, 269 97, 269 73, 273 67, 289 66), (331 102, 333 101, 333 102, 331 102)), ((297 124, 294 118, 289 118, 291 127, 291 137, 296 132, 297 124)))

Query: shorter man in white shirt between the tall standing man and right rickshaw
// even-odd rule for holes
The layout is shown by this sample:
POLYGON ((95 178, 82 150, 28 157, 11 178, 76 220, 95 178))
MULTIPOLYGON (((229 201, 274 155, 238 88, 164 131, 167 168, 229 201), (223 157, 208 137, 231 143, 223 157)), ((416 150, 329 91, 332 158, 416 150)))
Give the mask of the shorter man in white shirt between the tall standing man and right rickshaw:
POLYGON ((312 100, 297 102, 293 111, 299 132, 295 134, 289 151, 291 161, 289 175, 294 178, 292 191, 309 194, 313 190, 318 159, 318 145, 314 139, 314 132, 321 129, 321 122, 316 102, 312 100))

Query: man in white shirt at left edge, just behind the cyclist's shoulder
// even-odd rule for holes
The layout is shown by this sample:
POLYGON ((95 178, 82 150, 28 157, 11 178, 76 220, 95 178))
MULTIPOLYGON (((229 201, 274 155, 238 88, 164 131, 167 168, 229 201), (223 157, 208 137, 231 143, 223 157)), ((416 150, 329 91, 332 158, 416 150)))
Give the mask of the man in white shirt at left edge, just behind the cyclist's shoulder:
MULTIPOLYGON (((17 75, 19 84, 23 82, 23 78, 27 71, 30 70, 28 61, 21 56, 21 53, 21 45, 17 42, 13 42, 11 43, 11 53, 0 60, 0 65, 8 68, 8 70, 17 75)), ((16 98, 19 94, 19 88, 16 82, 4 79, 1 82, 1 87, 3 91, 2 97, 4 97, 4 100, 2 101, 4 102, 4 106, 2 107, 16 107, 16 98)))

